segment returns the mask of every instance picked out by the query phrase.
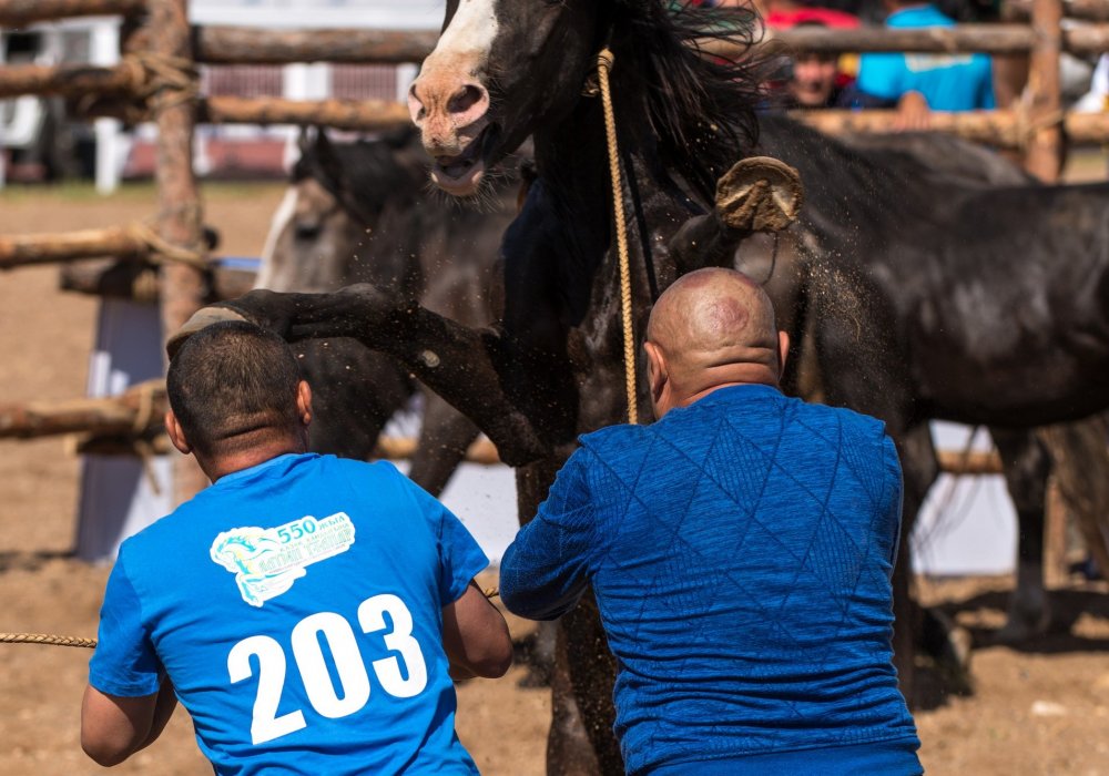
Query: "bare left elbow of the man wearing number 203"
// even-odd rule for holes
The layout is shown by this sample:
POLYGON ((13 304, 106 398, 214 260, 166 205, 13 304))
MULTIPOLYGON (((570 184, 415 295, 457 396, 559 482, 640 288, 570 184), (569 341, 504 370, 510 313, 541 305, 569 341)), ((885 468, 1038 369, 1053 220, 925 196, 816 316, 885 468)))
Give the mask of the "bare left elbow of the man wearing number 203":
POLYGON ((99 765, 119 765, 162 735, 177 696, 169 680, 153 695, 108 695, 92 685, 81 704, 81 748, 99 765))

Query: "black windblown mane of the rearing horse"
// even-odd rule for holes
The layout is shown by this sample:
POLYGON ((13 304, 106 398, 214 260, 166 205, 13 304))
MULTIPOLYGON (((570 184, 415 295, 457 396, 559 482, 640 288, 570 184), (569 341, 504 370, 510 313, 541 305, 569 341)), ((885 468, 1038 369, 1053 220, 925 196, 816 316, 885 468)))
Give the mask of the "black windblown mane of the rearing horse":
POLYGON ((675 7, 669 0, 615 0, 611 45, 613 100, 640 104, 622 134, 652 151, 703 202, 716 180, 749 155, 759 137, 755 109, 769 54, 751 47, 762 35, 746 7, 675 7), (737 45, 742 59, 704 53, 706 43, 737 45))

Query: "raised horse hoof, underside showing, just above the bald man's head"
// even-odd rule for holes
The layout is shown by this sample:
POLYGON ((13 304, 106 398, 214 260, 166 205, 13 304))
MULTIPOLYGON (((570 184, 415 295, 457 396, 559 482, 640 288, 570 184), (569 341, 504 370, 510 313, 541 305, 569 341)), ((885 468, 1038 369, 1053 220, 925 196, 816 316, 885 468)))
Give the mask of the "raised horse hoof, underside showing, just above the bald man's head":
POLYGON ((716 182, 716 216, 747 232, 781 232, 797 217, 804 201, 801 175, 771 156, 736 162, 716 182))

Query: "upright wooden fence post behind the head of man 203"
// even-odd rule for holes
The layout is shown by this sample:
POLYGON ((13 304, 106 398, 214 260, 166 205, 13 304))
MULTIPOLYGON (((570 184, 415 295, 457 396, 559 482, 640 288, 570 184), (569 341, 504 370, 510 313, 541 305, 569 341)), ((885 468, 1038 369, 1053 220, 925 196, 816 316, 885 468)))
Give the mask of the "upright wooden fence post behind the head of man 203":
MULTIPOLYGON (((201 256, 204 251, 200 191, 193 174, 193 131, 199 91, 193 65, 189 0, 150 0, 147 23, 154 72, 174 73, 153 85, 150 104, 157 123, 157 234, 165 242, 201 256)), ((159 290, 163 334, 169 336, 204 306, 206 274, 197 266, 173 262, 162 267, 159 290)), ((189 499, 207 481, 192 458, 174 467, 175 496, 189 499)))

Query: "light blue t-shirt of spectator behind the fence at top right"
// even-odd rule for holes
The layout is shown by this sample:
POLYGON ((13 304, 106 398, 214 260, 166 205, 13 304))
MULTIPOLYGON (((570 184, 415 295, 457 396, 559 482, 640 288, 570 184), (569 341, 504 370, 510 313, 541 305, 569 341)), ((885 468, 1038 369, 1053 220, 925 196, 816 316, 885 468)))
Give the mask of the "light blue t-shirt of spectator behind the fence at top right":
MULTIPOLYGON (((953 27, 935 6, 894 11, 886 27, 953 27)), ((883 100, 920 92, 936 111, 994 108, 994 76, 987 54, 866 53, 858 61, 855 90, 883 100)))

